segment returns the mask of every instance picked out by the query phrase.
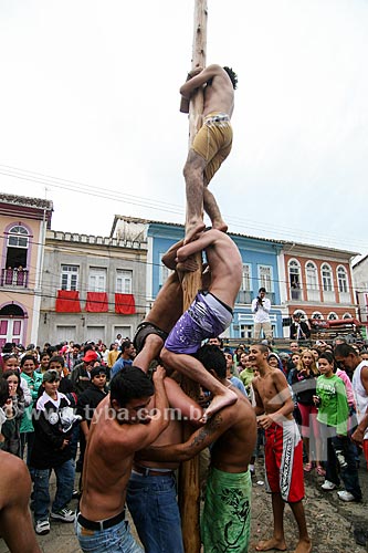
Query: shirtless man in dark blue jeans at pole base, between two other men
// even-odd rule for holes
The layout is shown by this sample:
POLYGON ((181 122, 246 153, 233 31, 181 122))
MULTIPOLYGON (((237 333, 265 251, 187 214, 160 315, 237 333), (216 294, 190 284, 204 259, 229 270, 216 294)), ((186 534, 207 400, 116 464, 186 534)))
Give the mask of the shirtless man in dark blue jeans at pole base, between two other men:
MULTIPOLYGON (((202 409, 189 398, 172 378, 164 380, 170 409, 169 426, 153 444, 180 444, 182 420, 199 425, 202 409)), ((155 408, 154 398, 148 409, 155 408)), ((139 457, 139 452, 138 452, 139 457)), ((127 488, 127 505, 146 553, 172 551, 183 553, 181 520, 177 502, 175 470, 178 460, 159 462, 135 459, 127 488)))

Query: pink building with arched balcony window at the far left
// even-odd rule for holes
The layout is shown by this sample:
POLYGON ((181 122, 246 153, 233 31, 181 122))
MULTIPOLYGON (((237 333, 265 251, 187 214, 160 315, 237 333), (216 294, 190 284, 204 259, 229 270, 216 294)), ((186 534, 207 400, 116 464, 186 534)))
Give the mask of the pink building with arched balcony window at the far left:
POLYGON ((52 201, 0 195, 0 346, 36 343, 52 201))

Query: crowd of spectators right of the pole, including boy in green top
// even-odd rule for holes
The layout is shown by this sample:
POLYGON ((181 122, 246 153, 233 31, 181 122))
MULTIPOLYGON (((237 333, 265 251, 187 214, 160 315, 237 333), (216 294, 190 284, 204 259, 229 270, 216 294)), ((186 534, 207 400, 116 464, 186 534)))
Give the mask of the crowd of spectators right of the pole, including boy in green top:
MULTIPOLYGON (((307 347, 294 341, 277 352, 266 341, 263 343, 269 347, 269 364, 278 367, 291 386, 294 417, 304 442, 304 471, 323 477, 324 491, 336 489, 341 479, 346 489, 338 497, 343 501, 359 501, 357 467, 364 455, 368 468, 368 441, 364 440, 361 448, 350 439, 357 425, 357 405, 351 384, 354 371, 344 358, 356 355, 356 365, 368 361, 365 344, 347 344, 337 336, 330 344, 317 341, 307 347), (337 358, 340 349, 344 356, 337 358)), ((235 348, 233 371, 252 398, 252 379, 257 372, 248 353, 242 344, 235 348)))

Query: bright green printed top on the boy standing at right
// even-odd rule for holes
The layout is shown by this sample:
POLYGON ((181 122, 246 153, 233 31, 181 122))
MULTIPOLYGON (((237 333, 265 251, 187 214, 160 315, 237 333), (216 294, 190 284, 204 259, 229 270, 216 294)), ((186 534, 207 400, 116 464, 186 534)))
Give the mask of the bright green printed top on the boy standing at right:
POLYGON ((349 406, 344 382, 335 374, 329 378, 318 376, 316 393, 320 399, 317 420, 334 426, 337 435, 346 436, 349 406))

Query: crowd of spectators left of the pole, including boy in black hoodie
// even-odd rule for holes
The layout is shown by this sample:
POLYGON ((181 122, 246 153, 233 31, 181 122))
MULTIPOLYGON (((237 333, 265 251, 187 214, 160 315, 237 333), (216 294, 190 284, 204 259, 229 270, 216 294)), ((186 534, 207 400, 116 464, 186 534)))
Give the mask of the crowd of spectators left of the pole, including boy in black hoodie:
POLYGON ((50 520, 74 522, 69 508, 81 494, 82 469, 94 409, 107 394, 111 369, 132 364, 129 337, 107 349, 102 341, 77 344, 3 345, 0 379, 9 388, 0 406, 0 449, 27 462, 33 482, 31 509, 38 534, 50 532, 50 520), (128 353, 127 353, 128 352, 128 353), (52 470, 56 493, 49 493, 52 470), (75 472, 81 472, 74 489, 75 472))

